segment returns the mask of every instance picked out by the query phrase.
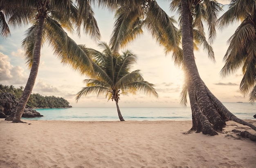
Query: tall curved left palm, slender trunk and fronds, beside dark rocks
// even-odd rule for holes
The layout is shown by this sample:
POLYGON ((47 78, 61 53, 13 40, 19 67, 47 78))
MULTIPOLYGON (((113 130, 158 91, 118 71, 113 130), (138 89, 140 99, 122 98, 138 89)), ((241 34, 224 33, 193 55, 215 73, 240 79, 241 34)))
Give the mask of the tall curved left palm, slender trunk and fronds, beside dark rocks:
POLYGON ((16 108, 13 122, 22 122, 20 118, 34 87, 40 62, 40 50, 44 41, 54 48, 54 53, 62 63, 70 64, 81 73, 90 73, 90 59, 76 43, 70 39, 63 27, 72 31, 75 24, 78 34, 81 26, 94 39, 99 39, 99 29, 93 17, 93 11, 87 0, 2 0, 11 8, 6 11, 10 15, 9 23, 13 26, 27 25, 33 20, 33 25, 27 30, 27 37, 22 41, 26 51, 26 60, 31 68, 27 85, 16 108), (71 21, 70 21, 71 20, 71 21))

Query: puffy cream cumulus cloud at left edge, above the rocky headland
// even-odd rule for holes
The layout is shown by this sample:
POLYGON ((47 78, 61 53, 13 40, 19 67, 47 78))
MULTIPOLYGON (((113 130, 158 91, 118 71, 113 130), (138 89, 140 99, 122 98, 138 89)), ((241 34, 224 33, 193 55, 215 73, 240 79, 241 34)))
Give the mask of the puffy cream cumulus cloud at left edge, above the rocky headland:
POLYGON ((24 75, 24 69, 20 66, 13 66, 10 63, 10 58, 0 52, 0 82, 7 85, 25 84, 27 77, 24 75))

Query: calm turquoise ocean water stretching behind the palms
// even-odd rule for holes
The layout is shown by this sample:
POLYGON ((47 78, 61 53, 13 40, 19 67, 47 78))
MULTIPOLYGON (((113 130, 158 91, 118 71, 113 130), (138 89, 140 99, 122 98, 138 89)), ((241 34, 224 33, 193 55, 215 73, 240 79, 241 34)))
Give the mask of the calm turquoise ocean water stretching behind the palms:
MULTIPOLYGON (((240 119, 256 119, 256 105, 250 103, 223 103, 230 112, 240 119)), ((154 107, 132 108, 119 107, 126 121, 184 121, 192 120, 191 108, 154 107)), ((43 117, 22 118, 26 120, 63 120, 63 121, 119 121, 116 107, 107 108, 52 108, 35 109, 43 117)))

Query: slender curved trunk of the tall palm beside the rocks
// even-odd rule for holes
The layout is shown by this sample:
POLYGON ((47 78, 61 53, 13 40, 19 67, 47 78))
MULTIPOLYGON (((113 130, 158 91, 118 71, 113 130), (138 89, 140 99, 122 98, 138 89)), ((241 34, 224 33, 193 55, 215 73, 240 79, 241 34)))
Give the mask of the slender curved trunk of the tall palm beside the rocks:
POLYGON ((36 44, 35 44, 34 55, 33 55, 33 63, 32 63, 31 71, 29 74, 29 78, 27 80, 27 84, 22 93, 19 104, 16 108, 16 112, 15 112, 15 115, 14 115, 13 121, 12 121, 13 123, 22 122, 22 121, 20 121, 21 116, 24 112, 27 101, 29 99, 29 96, 33 90, 33 87, 34 87, 34 84, 36 81, 36 76, 38 73, 38 67, 39 67, 39 63, 40 63, 40 51, 41 51, 41 46, 42 46, 44 19, 45 18, 43 16, 39 16, 39 18, 38 18, 38 32, 37 32, 37 36, 36 36, 36 44))

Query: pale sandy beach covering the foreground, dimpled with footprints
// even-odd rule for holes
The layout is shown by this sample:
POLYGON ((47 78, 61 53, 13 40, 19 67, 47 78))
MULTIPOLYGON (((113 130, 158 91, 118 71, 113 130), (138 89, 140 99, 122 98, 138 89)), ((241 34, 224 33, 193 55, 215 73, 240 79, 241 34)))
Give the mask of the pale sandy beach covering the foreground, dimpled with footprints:
POLYGON ((191 121, 26 122, 0 119, 0 168, 256 167, 256 142, 231 130, 255 132, 234 121, 213 137, 191 121))

